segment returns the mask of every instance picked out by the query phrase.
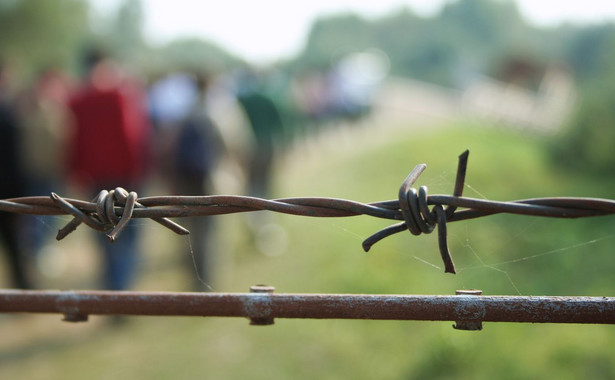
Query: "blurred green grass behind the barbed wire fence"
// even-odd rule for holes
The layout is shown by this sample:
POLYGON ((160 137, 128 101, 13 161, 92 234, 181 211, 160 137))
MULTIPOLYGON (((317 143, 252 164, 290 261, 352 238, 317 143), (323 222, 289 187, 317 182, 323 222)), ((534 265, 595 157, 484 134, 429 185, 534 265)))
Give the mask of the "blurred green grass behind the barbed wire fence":
MULTIPOLYGON (((472 125, 396 130, 373 143, 358 138, 290 154, 279 165, 276 196, 394 199, 418 163, 428 168, 417 186, 449 194, 457 156, 468 148, 468 196, 613 197, 611 179, 553 166, 544 141, 472 125)), ((287 250, 279 256, 255 252, 243 235, 241 217, 221 217, 223 235, 234 240, 219 257, 225 265, 215 290, 244 292, 265 283, 278 292, 454 294, 478 288, 485 294, 602 296, 614 289, 611 217, 498 215, 450 223, 449 243, 459 268, 455 276, 440 269, 435 235, 397 234, 364 253, 362 239, 390 221, 271 218, 288 235, 287 250)), ((164 241, 166 231, 150 230, 164 241)), ((150 263, 142 288, 177 290, 190 281, 175 256, 186 254, 185 241, 173 241, 179 247, 156 256, 158 264, 150 263)), ((453 330, 451 322, 276 320, 274 326, 254 327, 241 319, 131 318, 115 329, 62 324, 58 316, 1 322, 28 318, 57 334, 43 340, 29 333, 18 346, 3 345, 2 379, 615 377, 615 331, 609 326, 486 323, 481 332, 464 332, 453 330)), ((98 320, 93 317, 94 324, 98 320)))

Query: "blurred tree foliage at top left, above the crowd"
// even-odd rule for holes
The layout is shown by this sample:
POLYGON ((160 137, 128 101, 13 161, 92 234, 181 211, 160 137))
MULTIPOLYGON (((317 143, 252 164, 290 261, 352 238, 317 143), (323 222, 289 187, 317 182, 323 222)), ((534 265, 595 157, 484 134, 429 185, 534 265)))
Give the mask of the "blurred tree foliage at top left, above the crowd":
POLYGON ((78 74, 80 56, 88 45, 102 46, 142 74, 174 68, 221 69, 240 62, 223 48, 198 38, 148 46, 140 0, 124 0, 105 20, 96 20, 91 12, 85 0, 0 2, 0 61, 12 64, 22 79, 47 66, 78 74), (101 25, 96 27, 92 20, 101 25))

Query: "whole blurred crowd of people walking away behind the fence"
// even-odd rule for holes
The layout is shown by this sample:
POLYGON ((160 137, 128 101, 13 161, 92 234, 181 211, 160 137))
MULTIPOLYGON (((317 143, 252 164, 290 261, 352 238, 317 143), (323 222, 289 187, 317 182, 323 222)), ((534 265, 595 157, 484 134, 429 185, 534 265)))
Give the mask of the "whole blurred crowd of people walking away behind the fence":
MULTIPOLYGON (((139 192, 152 182, 169 193, 211 195, 221 166, 231 182, 244 184, 235 191, 267 198, 275 155, 292 134, 287 93, 305 120, 368 110, 365 89, 341 75, 303 75, 283 91, 276 91, 275 72, 251 68, 170 71, 145 82, 92 49, 80 80, 51 67, 16 89, 11 67, 0 62, 0 199, 52 191, 90 199, 103 189, 139 192)), ((211 274, 210 219, 186 225, 202 283, 211 274)), ((114 243, 100 234, 101 288, 134 285, 139 232, 129 227, 114 243)), ((48 239, 36 218, 0 212, 0 249, 14 287, 36 287, 31 263, 48 239)))

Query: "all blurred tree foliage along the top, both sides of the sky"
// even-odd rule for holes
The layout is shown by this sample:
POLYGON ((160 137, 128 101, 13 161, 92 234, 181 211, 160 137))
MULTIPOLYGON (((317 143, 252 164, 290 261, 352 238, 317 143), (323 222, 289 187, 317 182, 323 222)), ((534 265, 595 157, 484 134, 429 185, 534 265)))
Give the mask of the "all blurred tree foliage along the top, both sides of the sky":
MULTIPOLYGON (((142 5, 140 0, 124 0, 114 15, 102 20, 104 26, 96 28, 85 0, 2 2, 0 57, 14 59, 22 75, 49 64, 74 71, 79 53, 92 42, 105 45, 143 74, 173 68, 218 70, 242 63, 241 57, 201 38, 148 44, 142 5)), ((512 1, 457 0, 429 18, 409 8, 380 18, 352 13, 320 18, 303 51, 284 65, 292 71, 320 70, 345 54, 376 48, 388 55, 392 74, 456 85, 521 56, 539 62, 563 60, 585 82, 608 58, 605 47, 612 30, 612 25, 535 28, 512 1)))

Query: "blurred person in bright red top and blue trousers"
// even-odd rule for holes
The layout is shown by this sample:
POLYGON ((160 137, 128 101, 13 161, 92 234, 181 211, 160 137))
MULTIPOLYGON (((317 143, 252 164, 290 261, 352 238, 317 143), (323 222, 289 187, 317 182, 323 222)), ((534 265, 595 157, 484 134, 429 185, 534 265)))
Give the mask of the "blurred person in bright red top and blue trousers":
MULTIPOLYGON (((90 51, 84 63, 85 83, 69 102, 69 175, 90 194, 117 186, 138 191, 145 179, 149 142, 144 93, 101 51, 90 51)), ((137 228, 129 225, 114 243, 101 234, 100 242, 104 288, 130 288, 140 256, 137 228)))

